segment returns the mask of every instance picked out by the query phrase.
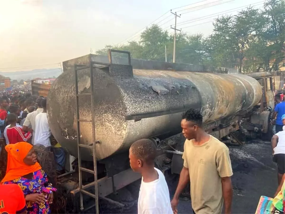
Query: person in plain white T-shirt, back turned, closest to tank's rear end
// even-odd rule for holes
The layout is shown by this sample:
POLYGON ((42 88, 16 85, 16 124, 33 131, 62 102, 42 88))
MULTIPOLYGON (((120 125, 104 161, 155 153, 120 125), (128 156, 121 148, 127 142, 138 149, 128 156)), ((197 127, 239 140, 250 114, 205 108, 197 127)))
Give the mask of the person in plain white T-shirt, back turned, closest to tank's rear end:
POLYGON ((44 147, 52 146, 50 143, 50 126, 48 125, 48 116, 46 114, 46 99, 41 102, 42 113, 36 116, 36 130, 34 136, 34 145, 41 144, 44 147))

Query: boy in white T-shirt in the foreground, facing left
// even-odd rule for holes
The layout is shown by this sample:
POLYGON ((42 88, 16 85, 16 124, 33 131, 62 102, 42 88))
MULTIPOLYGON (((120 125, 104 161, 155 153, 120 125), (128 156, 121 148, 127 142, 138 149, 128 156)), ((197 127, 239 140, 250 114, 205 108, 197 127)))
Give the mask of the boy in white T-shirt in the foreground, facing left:
POLYGON ((138 214, 173 214, 168 186, 163 173, 154 167, 156 147, 149 139, 141 139, 129 150, 133 171, 142 175, 138 214))

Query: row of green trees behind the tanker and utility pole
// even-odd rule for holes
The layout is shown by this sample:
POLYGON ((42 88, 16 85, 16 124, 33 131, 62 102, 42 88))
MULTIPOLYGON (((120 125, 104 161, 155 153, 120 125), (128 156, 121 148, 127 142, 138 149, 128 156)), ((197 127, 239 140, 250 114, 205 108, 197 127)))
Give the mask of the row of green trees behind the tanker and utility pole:
MULTIPOLYGON (((173 58, 174 36, 158 25, 147 27, 139 41, 109 48, 131 52, 131 57, 168 62, 173 58)), ((213 22, 213 33, 176 35, 176 62, 238 68, 240 72, 278 70, 284 66, 285 0, 269 0, 262 9, 248 7, 235 16, 224 15, 213 22)), ((115 56, 120 56, 116 53, 115 56)))

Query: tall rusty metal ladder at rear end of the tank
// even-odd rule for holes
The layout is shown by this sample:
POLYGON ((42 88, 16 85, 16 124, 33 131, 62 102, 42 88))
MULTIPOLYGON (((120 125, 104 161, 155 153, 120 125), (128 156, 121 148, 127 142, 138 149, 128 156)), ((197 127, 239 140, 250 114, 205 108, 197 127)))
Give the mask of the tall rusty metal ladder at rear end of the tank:
MULTIPOLYGON (((93 63, 90 60, 90 64, 87 66, 84 65, 75 65, 75 87, 76 87, 76 120, 77 120, 77 149, 78 149, 78 166, 79 166, 79 188, 80 188, 80 210, 84 211, 84 204, 83 204, 83 194, 89 195, 90 197, 95 199, 95 207, 96 207, 96 214, 99 214, 99 198, 98 198, 98 180, 97 180, 97 156, 96 156, 96 140, 95 140, 95 112, 94 112, 94 100, 93 100, 93 93, 94 93, 94 85, 93 85, 93 63), (78 93, 78 71, 83 69, 90 69, 90 87, 91 92, 90 93, 78 93), (91 120, 83 120, 80 119, 79 116, 79 97, 82 96, 89 96, 91 100, 91 120), (92 139, 93 144, 92 145, 85 145, 81 144, 80 142, 80 122, 84 123, 92 123, 92 139), (86 169, 81 166, 81 152, 80 148, 90 148, 93 151, 93 165, 94 169, 86 169), (82 171, 94 174, 94 190, 95 194, 90 193, 86 190, 84 190, 84 186, 82 185, 82 171)), ((94 207, 94 205, 88 207, 87 209, 90 209, 94 207)))

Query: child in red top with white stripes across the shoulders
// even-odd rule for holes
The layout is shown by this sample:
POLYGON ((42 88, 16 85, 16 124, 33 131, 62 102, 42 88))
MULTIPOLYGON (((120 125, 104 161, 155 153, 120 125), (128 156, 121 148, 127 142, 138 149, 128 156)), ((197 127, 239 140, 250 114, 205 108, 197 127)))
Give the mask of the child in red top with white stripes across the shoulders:
POLYGON ((25 133, 22 126, 17 124, 18 116, 16 114, 8 114, 7 122, 10 124, 4 130, 4 137, 6 144, 15 144, 18 142, 27 142, 32 133, 29 131, 25 133))

